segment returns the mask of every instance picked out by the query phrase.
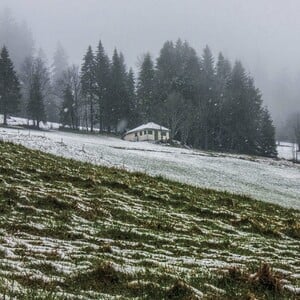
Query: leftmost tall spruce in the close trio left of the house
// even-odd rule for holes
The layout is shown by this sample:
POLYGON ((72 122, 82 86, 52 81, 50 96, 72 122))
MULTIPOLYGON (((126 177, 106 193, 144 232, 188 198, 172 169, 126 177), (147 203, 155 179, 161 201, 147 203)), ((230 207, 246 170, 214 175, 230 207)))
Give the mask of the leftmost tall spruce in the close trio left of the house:
POLYGON ((96 63, 92 47, 89 46, 84 62, 81 68, 81 88, 82 95, 85 100, 85 123, 88 128, 88 121, 90 123, 91 132, 94 130, 95 123, 95 106, 97 95, 96 83, 96 63))

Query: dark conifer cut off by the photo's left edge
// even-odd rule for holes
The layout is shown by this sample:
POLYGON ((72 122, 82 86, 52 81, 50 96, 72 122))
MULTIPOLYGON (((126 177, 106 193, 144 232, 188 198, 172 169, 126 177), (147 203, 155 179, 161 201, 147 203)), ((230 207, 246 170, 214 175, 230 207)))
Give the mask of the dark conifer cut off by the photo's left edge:
POLYGON ((16 113, 20 104, 20 84, 6 47, 0 53, 0 112, 7 125, 7 115, 16 113))

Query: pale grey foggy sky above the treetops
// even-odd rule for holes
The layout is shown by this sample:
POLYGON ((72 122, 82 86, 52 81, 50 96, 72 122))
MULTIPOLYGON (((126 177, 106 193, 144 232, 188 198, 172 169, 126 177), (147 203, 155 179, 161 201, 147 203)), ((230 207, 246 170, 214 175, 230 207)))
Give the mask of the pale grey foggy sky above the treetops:
POLYGON ((80 64, 89 44, 121 50, 128 66, 166 40, 189 41, 199 54, 240 59, 255 78, 276 124, 300 104, 298 0, 0 0, 26 20, 51 60, 57 42, 80 64))

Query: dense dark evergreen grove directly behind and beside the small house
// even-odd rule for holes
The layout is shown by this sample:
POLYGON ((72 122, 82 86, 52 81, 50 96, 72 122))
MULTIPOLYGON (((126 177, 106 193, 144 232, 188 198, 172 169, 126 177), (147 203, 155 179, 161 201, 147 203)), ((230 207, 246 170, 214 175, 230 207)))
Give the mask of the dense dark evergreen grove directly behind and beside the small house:
POLYGON ((196 148, 277 155, 275 128, 253 78, 221 53, 215 62, 208 46, 199 57, 187 42, 168 41, 156 62, 144 55, 135 82, 123 55, 115 50, 110 62, 100 42, 95 54, 89 47, 81 76, 86 117, 100 130, 153 121, 196 148))

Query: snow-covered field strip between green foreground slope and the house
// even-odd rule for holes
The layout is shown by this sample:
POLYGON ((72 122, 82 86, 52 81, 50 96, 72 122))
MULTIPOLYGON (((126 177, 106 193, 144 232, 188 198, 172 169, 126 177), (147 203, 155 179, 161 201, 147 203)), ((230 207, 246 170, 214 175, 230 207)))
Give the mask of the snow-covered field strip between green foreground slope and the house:
POLYGON ((286 160, 209 153, 59 131, 1 128, 0 138, 63 157, 162 175, 300 209, 300 166, 286 160))

